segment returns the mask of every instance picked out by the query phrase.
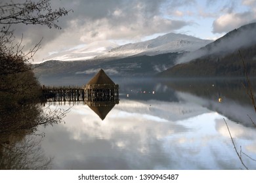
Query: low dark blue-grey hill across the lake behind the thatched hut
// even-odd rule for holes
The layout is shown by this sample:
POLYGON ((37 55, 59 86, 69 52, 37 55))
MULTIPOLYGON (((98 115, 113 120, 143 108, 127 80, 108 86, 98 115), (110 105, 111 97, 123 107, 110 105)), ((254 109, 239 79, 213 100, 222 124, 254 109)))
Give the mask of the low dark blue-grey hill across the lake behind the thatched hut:
MULTIPOLYGON (((178 53, 159 54, 156 56, 133 56, 109 60, 91 61, 45 61, 33 65, 35 76, 39 81, 49 84, 49 80, 84 80, 91 78, 104 69, 112 77, 152 77, 174 64, 178 53)), ((65 84, 65 83, 64 83, 65 84)))

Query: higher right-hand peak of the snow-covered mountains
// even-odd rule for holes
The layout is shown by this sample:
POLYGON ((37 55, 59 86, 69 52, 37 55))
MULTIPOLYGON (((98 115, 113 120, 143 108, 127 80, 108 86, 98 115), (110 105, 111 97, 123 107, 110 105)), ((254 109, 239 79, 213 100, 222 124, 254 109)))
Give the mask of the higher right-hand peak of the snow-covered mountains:
POLYGON ((212 41, 198 39, 184 34, 168 33, 156 39, 118 46, 110 50, 108 54, 102 56, 126 57, 137 54, 155 56, 173 52, 192 52, 210 42, 212 41))

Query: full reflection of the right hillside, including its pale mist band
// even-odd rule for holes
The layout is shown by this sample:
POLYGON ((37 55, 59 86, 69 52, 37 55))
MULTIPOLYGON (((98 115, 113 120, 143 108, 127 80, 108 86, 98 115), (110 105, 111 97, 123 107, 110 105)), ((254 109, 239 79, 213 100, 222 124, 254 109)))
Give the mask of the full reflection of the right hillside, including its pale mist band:
MULTIPOLYGON (((164 84, 177 91, 181 100, 199 103, 234 122, 251 126, 248 116, 255 121, 256 113, 242 82, 244 80, 172 80, 164 84)), ((255 80, 251 82, 256 86, 255 80)))

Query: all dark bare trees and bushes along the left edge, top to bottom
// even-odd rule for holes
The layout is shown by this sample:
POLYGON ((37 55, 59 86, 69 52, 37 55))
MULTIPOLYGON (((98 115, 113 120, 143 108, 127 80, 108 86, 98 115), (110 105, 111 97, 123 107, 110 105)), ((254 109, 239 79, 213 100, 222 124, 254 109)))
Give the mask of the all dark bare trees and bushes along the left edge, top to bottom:
POLYGON ((41 41, 24 52, 22 41, 15 43, 12 25, 60 29, 58 18, 69 11, 53 10, 50 0, 0 2, 0 169, 47 169, 51 159, 42 156, 39 143, 27 137, 37 131, 38 125, 61 122, 68 112, 41 107, 41 86, 28 64, 41 41))

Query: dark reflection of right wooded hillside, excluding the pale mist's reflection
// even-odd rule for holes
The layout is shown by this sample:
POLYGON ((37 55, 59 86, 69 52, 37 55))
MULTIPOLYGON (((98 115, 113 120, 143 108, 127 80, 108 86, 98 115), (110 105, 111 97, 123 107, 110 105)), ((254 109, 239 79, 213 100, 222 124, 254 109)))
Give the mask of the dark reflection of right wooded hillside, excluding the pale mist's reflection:
MULTIPOLYGON (((218 101, 219 97, 240 103, 251 105, 251 101, 244 88, 245 80, 215 80, 215 79, 192 79, 192 80, 162 80, 168 88, 178 92, 188 92, 198 97, 218 101)), ((256 91, 256 80, 251 80, 253 91, 256 91)))

